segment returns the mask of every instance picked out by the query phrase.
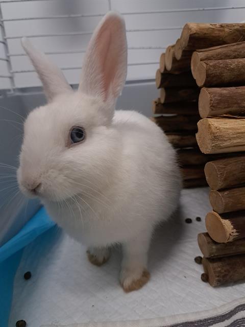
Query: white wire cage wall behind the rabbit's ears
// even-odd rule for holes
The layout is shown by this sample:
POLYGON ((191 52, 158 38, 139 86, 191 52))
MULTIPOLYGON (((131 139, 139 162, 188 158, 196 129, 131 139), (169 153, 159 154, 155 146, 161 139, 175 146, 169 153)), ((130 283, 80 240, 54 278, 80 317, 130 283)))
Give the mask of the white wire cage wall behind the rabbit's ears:
MULTIPOLYGON (((15 90, 17 87, 21 87, 21 78, 23 79, 24 76, 28 76, 27 73, 33 73, 34 74, 34 69, 32 68, 31 65, 29 64, 22 64, 23 61, 21 61, 21 58, 25 58, 24 52, 21 50, 20 46, 13 46, 19 43, 20 38, 23 36, 23 34, 18 34, 18 26, 21 24, 30 24, 30 26, 33 26, 33 32, 32 31, 26 31, 24 36, 28 36, 32 39, 32 41, 35 43, 38 43, 38 39, 41 40, 41 44, 45 44, 45 48, 47 48, 44 52, 47 55, 54 56, 55 59, 58 58, 59 56, 61 57, 62 55, 76 55, 76 54, 84 54, 85 48, 87 41, 89 40, 92 30, 89 29, 89 27, 84 26, 82 30, 76 30, 75 31, 69 31, 69 25, 72 26, 72 20, 79 19, 87 21, 90 19, 99 19, 105 15, 105 13, 108 10, 111 9, 119 9, 122 15, 124 15, 126 19, 126 26, 129 26, 127 28, 127 37, 130 40, 129 41, 129 53, 131 54, 131 57, 134 59, 130 58, 129 55, 129 67, 131 66, 134 69, 138 69, 138 71, 142 71, 142 69, 152 69, 152 73, 150 76, 144 76, 141 74, 141 79, 142 76, 145 79, 153 78, 155 75, 155 70, 159 62, 159 56, 162 52, 164 52, 166 46, 169 44, 166 44, 166 42, 175 42, 176 38, 179 36, 181 29, 184 25, 183 20, 181 20, 180 17, 197 17, 197 19, 191 19, 198 21, 198 17, 203 17, 203 21, 208 21, 209 17, 212 19, 216 19, 214 22, 232 22, 229 21, 229 19, 233 19, 234 17, 237 16, 237 19, 234 21, 241 21, 243 15, 243 19, 245 16, 245 2, 243 0, 234 0, 234 1, 229 1, 229 0, 217 0, 215 2, 215 7, 214 2, 211 2, 209 0, 206 0, 204 2, 200 2, 199 0, 193 1, 193 0, 174 0, 172 2, 166 1, 166 0, 132 0, 131 4, 129 3, 128 0, 101 0, 104 3, 104 11, 103 12, 84 12, 84 13, 65 13, 65 14, 38 14, 35 13, 35 15, 31 15, 30 13, 24 12, 18 14, 18 12, 13 12, 13 14, 9 14, 8 11, 6 10, 7 14, 4 14, 4 9, 8 9, 8 5, 12 6, 12 9, 14 8, 13 5, 16 4, 18 8, 21 4, 26 6, 28 8, 28 4, 31 3, 45 3, 45 6, 49 6, 52 2, 57 3, 59 2, 60 4, 64 1, 67 0, 2 0, 0 1, 0 29, 1 29, 1 34, 2 38, 0 37, 0 66, 4 67, 4 69, 0 69, 0 89, 5 88, 5 86, 2 86, 1 81, 3 80, 8 80, 8 87, 12 90, 15 90), (133 2, 133 5, 132 5, 133 2), (203 8, 198 8, 198 7, 191 7, 191 5, 199 5, 199 4, 204 4, 206 5, 203 8), (150 6, 149 6, 150 4, 150 6), (152 6, 151 6, 152 4, 152 6), (159 6, 160 4, 160 6, 159 6), (169 6, 170 4, 170 6, 169 6), (172 4, 172 5, 171 5, 172 4), (174 4, 174 5, 173 5, 174 4), (208 6, 208 5, 212 6, 208 6), (164 5, 165 8, 164 8, 164 5), (220 5, 220 6, 217 6, 220 5), (179 6, 179 8, 178 8, 179 6), (119 7, 119 8, 118 8, 119 7), (154 7, 157 8, 154 10, 154 7), (160 7, 160 9, 159 9, 160 7), (169 8, 170 7, 170 8, 169 8), (177 8, 174 8, 177 7, 177 8), (151 10, 143 10, 144 8, 150 8, 151 10), (120 10, 122 9, 122 10, 120 10), (125 9, 125 10, 123 10, 125 9), (128 10, 127 10, 128 9, 128 10), (137 10, 135 10, 137 9, 137 10), (222 12, 223 15, 218 15, 214 16, 214 13, 220 13, 222 12), (234 14, 231 15, 231 13, 234 12, 234 14), (239 12, 239 15, 238 15, 239 12), (200 15, 201 13, 201 15, 200 15), (209 14, 211 13, 211 14, 209 14), (225 14, 224 14, 225 13, 225 14), (171 16, 172 15, 172 16, 171 16), (174 16, 175 15, 175 16, 174 16), (176 16, 177 15, 177 16, 176 16), (163 22, 161 26, 155 26, 155 24, 159 24, 159 17, 165 17, 166 23, 163 22), (168 19, 168 16, 171 17, 177 17, 177 19, 173 19, 171 21, 168 19), (140 20, 139 17, 143 17, 144 21, 142 24, 137 24, 137 22, 140 20), (158 18, 154 19, 154 17, 158 18), (179 19, 178 19, 179 17, 179 19), (230 18, 227 18, 230 17, 230 18), (167 18, 167 19, 166 19, 167 18), (127 24, 127 19, 129 19, 129 24, 127 24), (38 24, 38 22, 41 22, 41 24, 45 25, 47 24, 48 21, 52 21, 54 26, 57 24, 57 21, 65 21, 67 26, 67 31, 62 31, 62 32, 56 32, 56 31, 48 31, 48 33, 40 33, 39 31, 35 31, 35 25, 38 24), (135 20, 135 24, 132 24, 132 21, 135 20), (228 21, 227 21, 228 20, 228 21), (68 22, 68 25, 67 25, 68 22), (179 22, 180 24, 176 25, 175 22, 179 22), (10 25, 12 24, 18 24, 15 25, 15 29, 10 29, 10 25), (172 25, 173 24, 173 25, 172 25), (138 28, 138 25, 140 28, 138 28), (145 26, 144 26, 145 25, 145 26), (163 26, 162 26, 163 25, 163 26), (135 26, 135 28, 134 28, 135 26), (133 28, 131 28, 133 27, 133 28), (16 33, 17 32, 17 33, 16 33), (163 35, 162 39, 159 38, 160 35, 163 35), (137 42, 137 36, 140 35, 141 42, 137 42), (170 37, 169 37, 170 35, 170 37), (83 47, 77 49, 69 49, 69 46, 67 44, 67 39, 71 39, 74 37, 85 37, 86 41, 83 42, 83 47), (158 38, 157 38, 158 37, 158 38), (163 39, 165 37, 165 40, 163 39), (58 47, 58 49, 54 50, 49 50, 48 49, 48 44, 51 44, 54 38, 61 38, 64 40, 66 38, 66 42, 63 42, 63 48, 58 47), (142 40, 143 39, 143 40, 142 40), (151 42, 152 40, 155 39, 155 42, 151 42), (166 40, 167 39, 167 40, 166 40), (135 41, 134 41, 135 40, 135 41), (145 44, 144 43, 145 40, 145 44), (150 40, 150 41, 149 41, 150 40), (173 40, 173 41, 172 41, 173 40), (136 45, 134 45, 136 44, 136 45), (17 50, 16 50, 17 49, 17 50), (145 56, 145 54, 149 54, 148 56, 145 56), (137 56, 135 55, 137 54, 137 56), (57 57, 58 56, 58 57, 57 57), (147 57, 147 58, 146 58, 147 57), (141 59, 142 58, 142 59, 141 59), (145 58, 145 59, 144 59, 145 58), (152 59, 152 60, 151 60, 152 59), (17 61, 16 61, 17 60, 17 61), (17 62, 17 64, 16 64, 17 62), (138 66, 138 68, 137 68, 138 66), (2 87, 1 87, 2 86, 2 87)), ((76 0, 75 0, 76 1, 76 0)), ((80 0, 83 2, 84 0, 80 0)), ((90 3, 93 3, 91 1, 90 3)), ((97 3, 96 3, 97 4, 97 3)), ((33 5, 33 4, 32 4, 33 5)), ((94 2, 95 5, 95 2, 94 2)), ((90 6, 91 7, 91 6, 90 6)), ((47 10, 48 12, 48 10, 47 10)), ((184 18, 185 19, 185 18, 184 18)), ((141 18, 142 20, 142 18, 141 18)), ((90 24, 91 25, 91 24, 90 24)), ((96 24, 95 24, 96 25, 96 24)), ((60 26, 60 25, 59 25, 60 26)), ((55 29, 56 30, 56 29, 55 29)), ((61 60, 60 67, 64 71, 77 71, 81 68, 80 62, 79 64, 69 64, 69 61, 66 57, 63 61, 61 60), (64 63, 65 62, 65 63, 64 63)), ((58 60, 58 59, 57 59, 58 60)), ((58 60, 59 61, 59 60, 58 60)), ((76 62, 76 60, 74 60, 76 62)), ((148 69, 148 71, 149 71, 148 69)), ((137 72, 137 70, 136 70, 137 72)), ((140 75, 139 75, 140 76, 140 75)), ((137 74, 136 74, 137 78, 137 74)), ((132 78, 129 78, 132 79, 132 78)), ((140 79, 140 78, 139 78, 140 79)), ((72 78, 71 78, 72 80, 72 78)), ((68 76, 68 81, 69 81, 69 76, 68 76)), ((70 81, 69 81, 70 82, 70 81)), ((6 84, 6 83, 5 83, 6 84)), ((4 85, 4 84, 3 84, 4 85)), ((38 86, 39 84, 37 82, 34 83, 33 86, 38 86)), ((23 83, 23 86, 30 86, 26 85, 23 83)))

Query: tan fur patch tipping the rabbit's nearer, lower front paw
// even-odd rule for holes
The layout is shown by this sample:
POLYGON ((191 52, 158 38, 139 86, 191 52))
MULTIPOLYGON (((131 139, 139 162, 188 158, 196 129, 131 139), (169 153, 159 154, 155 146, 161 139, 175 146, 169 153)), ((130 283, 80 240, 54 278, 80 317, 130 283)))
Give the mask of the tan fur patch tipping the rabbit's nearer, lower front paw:
POLYGON ((124 273, 121 274, 120 283, 121 287, 126 293, 137 291, 143 287, 150 279, 150 272, 146 269, 143 270, 143 273, 139 278, 135 278, 134 275, 124 276, 124 273))

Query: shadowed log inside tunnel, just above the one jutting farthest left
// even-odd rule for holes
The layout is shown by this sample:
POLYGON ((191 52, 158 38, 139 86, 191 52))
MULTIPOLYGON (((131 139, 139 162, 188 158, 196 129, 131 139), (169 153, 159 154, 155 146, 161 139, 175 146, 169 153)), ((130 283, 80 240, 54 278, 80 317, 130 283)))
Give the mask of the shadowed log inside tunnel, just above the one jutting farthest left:
POLYGON ((198 101, 198 88, 184 87, 165 87, 160 89, 161 103, 180 102, 180 101, 198 101))

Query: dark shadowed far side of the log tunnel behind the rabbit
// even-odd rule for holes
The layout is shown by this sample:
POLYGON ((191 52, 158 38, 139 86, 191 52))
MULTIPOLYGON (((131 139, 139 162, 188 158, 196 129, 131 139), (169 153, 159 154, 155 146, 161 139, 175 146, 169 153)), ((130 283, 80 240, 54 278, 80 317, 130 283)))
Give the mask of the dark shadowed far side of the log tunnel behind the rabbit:
POLYGON ((200 120, 198 113, 199 87, 190 71, 190 56, 177 60, 174 45, 160 57, 156 72, 159 99, 153 101, 152 120, 167 134, 178 149, 184 187, 207 185, 204 165, 207 158, 198 149, 195 133, 200 120))

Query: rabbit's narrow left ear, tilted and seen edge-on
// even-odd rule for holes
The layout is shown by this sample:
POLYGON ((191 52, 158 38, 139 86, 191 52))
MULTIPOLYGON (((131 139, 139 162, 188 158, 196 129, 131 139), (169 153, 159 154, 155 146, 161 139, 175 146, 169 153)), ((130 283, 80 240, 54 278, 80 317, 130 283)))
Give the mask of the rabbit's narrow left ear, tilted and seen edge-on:
POLYGON ((54 97, 59 94, 64 94, 72 90, 61 72, 61 69, 44 55, 44 53, 35 49, 28 38, 23 37, 21 39, 21 44, 36 69, 48 101, 52 101, 54 97))

